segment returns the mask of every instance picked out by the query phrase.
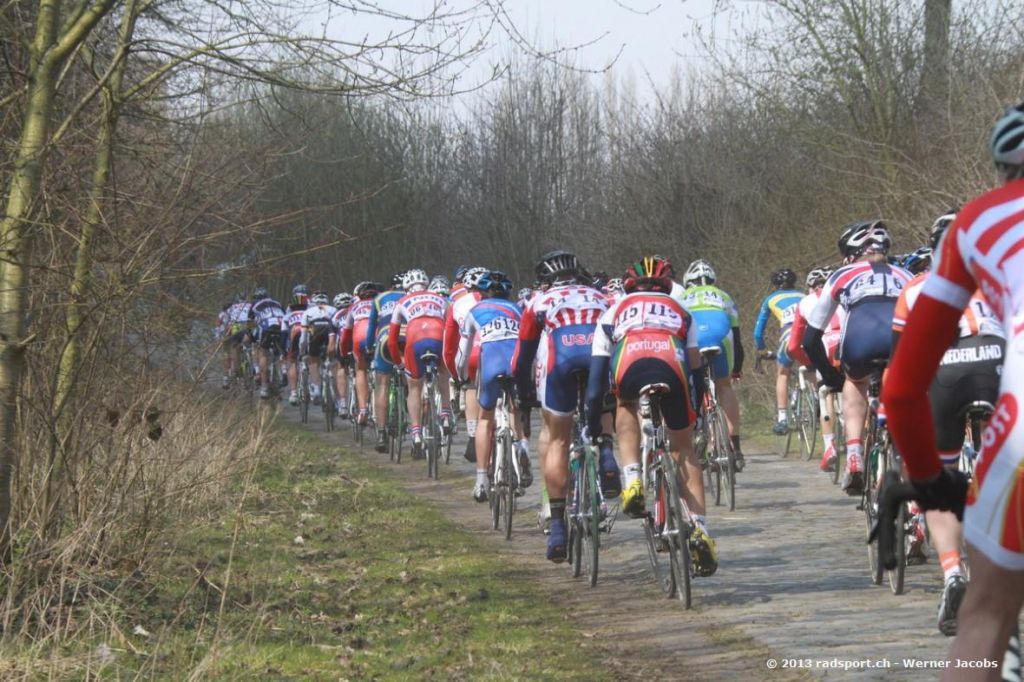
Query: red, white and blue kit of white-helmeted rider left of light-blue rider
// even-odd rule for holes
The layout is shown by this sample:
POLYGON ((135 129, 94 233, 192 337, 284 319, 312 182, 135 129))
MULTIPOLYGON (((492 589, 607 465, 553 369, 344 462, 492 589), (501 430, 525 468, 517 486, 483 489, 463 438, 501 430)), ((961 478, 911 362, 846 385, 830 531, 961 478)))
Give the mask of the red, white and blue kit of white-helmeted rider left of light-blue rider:
POLYGON ((388 349, 392 357, 401 357, 398 354, 398 338, 401 326, 406 325, 403 365, 406 376, 410 379, 423 377, 426 368, 423 361, 424 353, 431 352, 437 355, 438 367, 440 366, 446 310, 447 301, 444 297, 427 290, 410 292, 394 306, 388 332, 388 349))

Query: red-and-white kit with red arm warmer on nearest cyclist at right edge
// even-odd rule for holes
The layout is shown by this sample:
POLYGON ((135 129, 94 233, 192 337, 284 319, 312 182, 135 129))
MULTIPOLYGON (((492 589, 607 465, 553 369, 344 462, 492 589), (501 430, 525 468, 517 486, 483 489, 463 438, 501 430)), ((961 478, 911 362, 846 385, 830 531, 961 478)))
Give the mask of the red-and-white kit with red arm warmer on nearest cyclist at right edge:
POLYGON ((885 388, 890 430, 910 477, 938 473, 932 415, 924 392, 957 324, 980 289, 1007 335, 1004 381, 968 493, 967 540, 989 560, 1024 569, 1024 180, 965 206, 946 230, 902 334, 885 388))

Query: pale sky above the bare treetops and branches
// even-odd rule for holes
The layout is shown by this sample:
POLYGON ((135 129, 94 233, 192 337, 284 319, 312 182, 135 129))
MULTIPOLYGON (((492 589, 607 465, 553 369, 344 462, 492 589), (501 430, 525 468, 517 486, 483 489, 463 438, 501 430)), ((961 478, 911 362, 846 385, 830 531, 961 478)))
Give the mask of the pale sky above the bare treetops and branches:
MULTIPOLYGON (((367 1, 354 0, 356 4, 367 1)), ((495 16, 494 2, 486 0, 482 8, 478 0, 375 0, 375 4, 386 11, 410 14, 422 14, 435 5, 439 11, 476 6, 475 28, 470 34, 479 32, 479 28, 495 16)), ((522 54, 525 43, 525 51, 569 48, 556 58, 578 69, 600 72, 611 66, 613 76, 632 80, 642 94, 650 85, 667 84, 674 70, 699 69, 707 60, 699 36, 713 40, 718 47, 728 46, 739 28, 756 14, 760 3, 744 0, 504 0, 499 4, 505 11, 505 16, 500 18, 506 26, 494 28, 488 36, 489 48, 460 73, 459 89, 472 89, 486 82, 494 69, 507 62, 510 54, 517 51, 522 54), (510 25, 523 40, 510 37, 510 25)), ((397 19, 338 10, 332 11, 326 24, 328 35, 347 39, 366 37, 371 42, 402 28, 397 19)))

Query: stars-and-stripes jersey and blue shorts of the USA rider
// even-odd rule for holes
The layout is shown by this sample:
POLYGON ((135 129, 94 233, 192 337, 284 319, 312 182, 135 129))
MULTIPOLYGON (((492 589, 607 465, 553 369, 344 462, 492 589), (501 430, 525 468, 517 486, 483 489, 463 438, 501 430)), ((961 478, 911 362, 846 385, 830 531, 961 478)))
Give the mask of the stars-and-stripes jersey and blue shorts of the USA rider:
POLYGON ((600 291, 574 284, 551 287, 530 300, 522 313, 513 360, 521 394, 528 391, 536 372, 541 407, 561 416, 575 411, 577 375, 590 370, 594 328, 607 307, 600 291))

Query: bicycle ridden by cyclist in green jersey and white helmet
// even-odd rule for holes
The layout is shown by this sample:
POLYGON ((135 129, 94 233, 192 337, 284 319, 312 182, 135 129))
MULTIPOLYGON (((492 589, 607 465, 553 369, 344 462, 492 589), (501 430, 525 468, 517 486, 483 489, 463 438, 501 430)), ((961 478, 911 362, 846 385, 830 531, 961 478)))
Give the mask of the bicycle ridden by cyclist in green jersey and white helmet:
POLYGON ((709 492, 715 495, 715 505, 722 504, 722 492, 725 491, 729 511, 736 509, 736 453, 729 438, 729 426, 725 420, 725 412, 718 402, 715 391, 715 378, 712 376, 712 364, 722 352, 718 346, 700 348, 700 357, 707 368, 705 372, 703 403, 700 407, 701 437, 698 438, 697 461, 703 465, 709 492), (724 485, 723 485, 723 480, 724 485))

